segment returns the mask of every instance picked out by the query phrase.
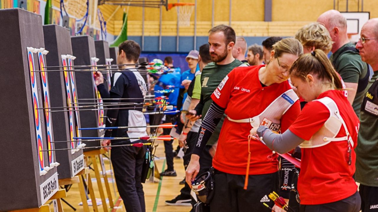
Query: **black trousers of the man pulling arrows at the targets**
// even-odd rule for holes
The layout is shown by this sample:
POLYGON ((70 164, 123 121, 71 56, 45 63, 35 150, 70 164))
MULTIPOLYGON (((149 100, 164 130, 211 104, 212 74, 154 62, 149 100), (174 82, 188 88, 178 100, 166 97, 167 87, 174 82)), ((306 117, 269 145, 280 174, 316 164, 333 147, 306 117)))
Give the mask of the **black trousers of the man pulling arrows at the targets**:
POLYGON ((110 153, 118 192, 126 211, 146 212, 141 182, 146 147, 113 147, 110 153))

